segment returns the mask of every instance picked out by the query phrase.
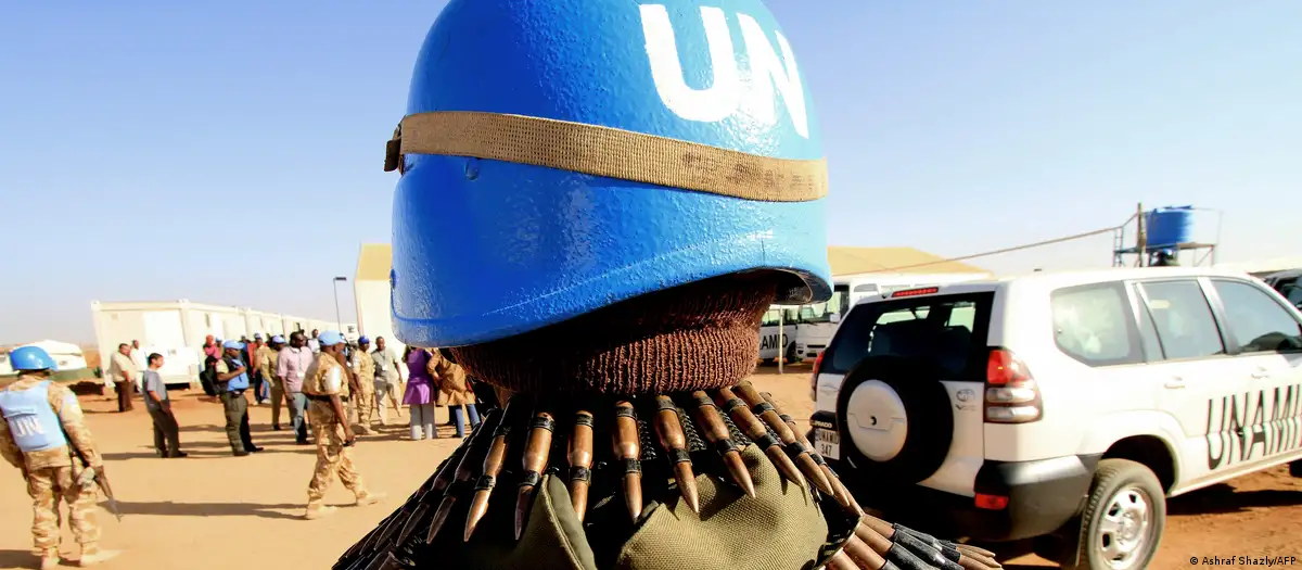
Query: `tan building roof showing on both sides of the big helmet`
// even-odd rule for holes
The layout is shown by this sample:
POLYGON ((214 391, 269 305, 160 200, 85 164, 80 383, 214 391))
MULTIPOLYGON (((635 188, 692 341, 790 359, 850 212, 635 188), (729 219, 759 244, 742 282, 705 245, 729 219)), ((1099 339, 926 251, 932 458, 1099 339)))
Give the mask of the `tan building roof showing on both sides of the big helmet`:
MULTIPOLYGON (((832 275, 852 273, 988 273, 975 265, 947 262, 913 247, 844 247, 827 249, 832 275)), ((388 243, 363 243, 357 258, 358 281, 388 281, 393 267, 393 247, 388 243)))

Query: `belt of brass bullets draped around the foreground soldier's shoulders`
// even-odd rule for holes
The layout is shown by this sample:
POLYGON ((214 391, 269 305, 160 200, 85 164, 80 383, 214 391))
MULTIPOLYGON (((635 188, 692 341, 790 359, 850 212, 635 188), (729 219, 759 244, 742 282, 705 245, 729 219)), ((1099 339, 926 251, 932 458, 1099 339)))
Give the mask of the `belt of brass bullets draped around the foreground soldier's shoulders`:
MULTIPOLYGON (((828 545, 816 553, 818 567, 999 567, 988 550, 937 540, 865 514, 790 416, 783 414, 768 394, 756 392, 750 383, 741 383, 717 390, 591 400, 578 405, 559 405, 517 394, 505 409, 486 415, 474 433, 408 502, 354 544, 335 569, 426 567, 428 561, 422 562, 421 558, 431 552, 426 547, 435 539, 444 540, 444 535, 452 534, 454 540, 470 540, 488 513, 493 489, 504 479, 518 485, 517 492, 506 495, 516 498, 516 540, 523 532, 543 474, 555 474, 565 482, 581 522, 589 508, 589 489, 595 475, 602 475, 603 482, 618 479, 624 506, 637 523, 643 509, 642 471, 646 466, 672 471, 684 504, 699 514, 694 454, 697 459, 717 457, 727 471, 723 475, 741 492, 754 497, 750 471, 738 452, 750 445, 763 450, 784 479, 802 487, 807 484, 815 500, 831 506, 831 510, 824 508, 824 513, 840 510, 845 514, 846 522, 840 531, 832 531, 829 518, 832 536, 828 545), (525 433, 512 437, 513 431, 525 433), (568 441, 553 445, 556 433, 568 441), (594 441, 612 441, 613 446, 594 448, 594 441), (553 449, 568 449, 569 453, 555 458, 553 449), (504 471, 505 463, 523 468, 504 471), (503 478, 504 474, 508 476, 503 478), (469 511, 456 509, 467 498, 469 511), (466 513, 465 521, 456 524, 460 528, 454 530, 450 522, 453 513, 466 513)), ((711 459, 699 465, 708 471, 710 465, 719 463, 711 459)))

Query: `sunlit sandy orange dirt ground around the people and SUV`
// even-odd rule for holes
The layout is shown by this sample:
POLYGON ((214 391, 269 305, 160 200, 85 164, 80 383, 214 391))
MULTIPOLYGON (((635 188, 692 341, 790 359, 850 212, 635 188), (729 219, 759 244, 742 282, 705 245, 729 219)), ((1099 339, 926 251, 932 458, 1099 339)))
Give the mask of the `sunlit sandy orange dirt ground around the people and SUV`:
MULTIPOLYGON (((754 380, 760 389, 772 392, 789 414, 807 422, 812 411, 807 367, 793 367, 781 376, 762 368, 754 380)), ((107 398, 82 398, 82 403, 105 454, 124 515, 117 522, 107 511, 100 513, 103 547, 122 550, 100 566, 105 570, 329 567, 454 446, 448 427, 440 428, 440 440, 401 440, 406 433, 404 414, 398 418, 401 427, 363 436, 355 450, 367 484, 388 492, 388 498, 307 522, 299 515, 307 498, 314 448, 294 445, 288 431, 271 431, 270 406, 251 407, 254 441, 267 450, 234 458, 225 444, 220 405, 194 396, 178 397, 182 448, 190 457, 159 459, 151 449, 143 405, 116 414, 107 398)), ((339 484, 328 495, 335 504, 349 500, 339 484)), ((1302 554, 1302 484, 1281 468, 1176 498, 1170 511, 1155 569, 1187 567, 1190 556, 1302 554)), ((7 514, 0 517, 0 569, 30 567, 35 562, 29 553, 30 500, 18 471, 7 466, 0 467, 0 513, 7 514)), ((76 544, 64 532, 64 552, 76 558, 76 544)), ((1047 565, 1034 556, 1005 562, 1005 567, 1047 565)))

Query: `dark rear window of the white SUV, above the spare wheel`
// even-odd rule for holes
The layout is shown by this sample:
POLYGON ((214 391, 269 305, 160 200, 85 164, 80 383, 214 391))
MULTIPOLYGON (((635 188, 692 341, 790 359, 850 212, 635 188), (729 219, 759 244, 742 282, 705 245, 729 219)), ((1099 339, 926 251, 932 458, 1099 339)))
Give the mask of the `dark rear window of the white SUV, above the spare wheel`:
POLYGON ((993 299, 971 293, 859 305, 837 328, 820 371, 846 373, 868 357, 926 358, 948 380, 982 381, 993 299))

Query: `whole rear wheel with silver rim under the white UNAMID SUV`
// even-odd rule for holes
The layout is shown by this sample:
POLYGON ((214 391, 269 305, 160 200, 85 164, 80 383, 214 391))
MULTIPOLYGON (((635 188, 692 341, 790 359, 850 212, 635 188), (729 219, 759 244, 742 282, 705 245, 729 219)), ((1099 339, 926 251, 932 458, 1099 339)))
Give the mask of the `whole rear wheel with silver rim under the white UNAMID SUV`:
POLYGON ((1082 570, 1143 569, 1157 553, 1167 498, 1157 476, 1129 459, 1103 459, 1081 513, 1082 570))

